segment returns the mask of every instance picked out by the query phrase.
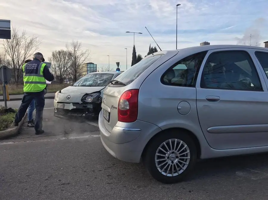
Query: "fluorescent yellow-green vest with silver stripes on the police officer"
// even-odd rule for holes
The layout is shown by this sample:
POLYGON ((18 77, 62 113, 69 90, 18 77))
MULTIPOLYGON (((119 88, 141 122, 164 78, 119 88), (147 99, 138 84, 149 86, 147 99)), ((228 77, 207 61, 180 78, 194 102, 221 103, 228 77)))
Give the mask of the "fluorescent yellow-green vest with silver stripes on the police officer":
POLYGON ((44 63, 40 63, 38 66, 38 74, 25 74, 25 69, 28 63, 22 66, 24 92, 40 92, 46 88, 46 79, 43 76, 43 69, 46 66, 44 63))

